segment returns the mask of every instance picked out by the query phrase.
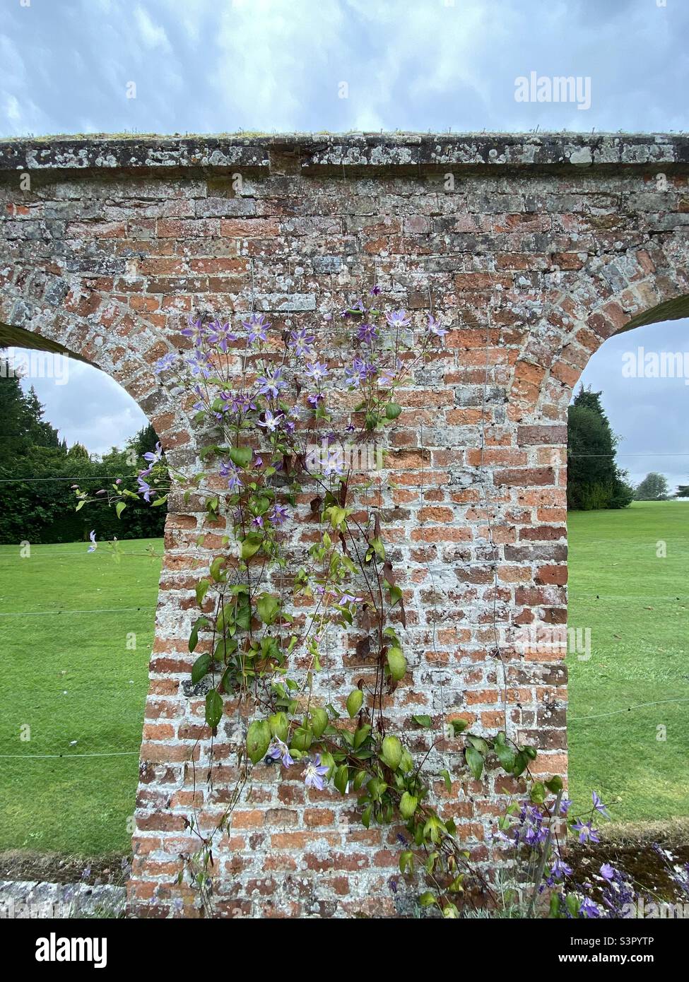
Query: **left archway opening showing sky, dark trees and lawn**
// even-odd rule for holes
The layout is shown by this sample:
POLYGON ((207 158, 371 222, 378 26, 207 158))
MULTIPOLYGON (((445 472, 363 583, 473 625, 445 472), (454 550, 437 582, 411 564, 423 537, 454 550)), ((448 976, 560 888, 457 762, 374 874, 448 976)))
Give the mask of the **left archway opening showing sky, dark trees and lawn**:
POLYGON ((86 359, 5 326, 0 347, 0 877, 121 880, 166 515, 136 474, 157 436, 86 359))

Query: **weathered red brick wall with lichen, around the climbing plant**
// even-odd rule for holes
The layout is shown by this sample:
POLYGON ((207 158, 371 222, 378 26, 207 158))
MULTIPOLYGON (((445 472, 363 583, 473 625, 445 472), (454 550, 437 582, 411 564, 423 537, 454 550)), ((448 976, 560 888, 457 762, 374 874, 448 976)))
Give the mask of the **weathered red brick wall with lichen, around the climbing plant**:
MULTIPOLYGON (((506 716, 511 736, 541 747, 537 768, 564 774, 562 653, 523 637, 566 622, 567 404, 605 338, 689 314, 688 174, 679 136, 0 141, 0 341, 98 365, 147 413, 171 463, 193 468, 187 409, 151 371, 185 347, 189 313, 229 315, 254 296, 277 328, 313 328, 323 355, 323 314, 373 275, 384 300, 448 315, 389 434, 385 537, 403 571, 410 669, 386 712, 400 731, 428 713, 436 737, 453 717, 494 733, 506 716)), ((187 647, 193 587, 217 544, 195 545, 203 520, 198 502, 173 496, 130 884, 140 916, 190 914, 174 882, 195 847, 185 819, 196 805, 207 825, 223 807, 242 738, 228 700, 207 794, 187 647)), ((295 556, 308 541, 305 525, 295 556)), ((358 639, 331 655, 330 697, 370 671, 358 639)), ((451 743, 443 760, 442 811, 489 862, 492 823, 517 786, 474 782, 451 743)), ((394 837, 363 828, 353 797, 260 766, 216 851, 217 911, 394 915, 394 837)))

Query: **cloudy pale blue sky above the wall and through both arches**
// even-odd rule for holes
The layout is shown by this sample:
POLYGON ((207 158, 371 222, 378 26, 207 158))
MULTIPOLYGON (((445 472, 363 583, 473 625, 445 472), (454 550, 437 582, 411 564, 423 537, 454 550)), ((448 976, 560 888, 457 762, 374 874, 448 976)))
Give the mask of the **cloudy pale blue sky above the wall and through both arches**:
MULTIPOLYGON (((0 136, 689 130, 688 0, 0 0, 0 13, 0 136), (579 79, 581 97, 519 101, 532 72, 579 79)), ((584 374, 635 480, 688 479, 689 386, 625 378, 621 355, 643 338, 689 351, 688 329, 610 339, 584 374)), ((69 385, 34 384, 68 442, 102 453, 144 417, 93 371, 73 362, 69 385)))

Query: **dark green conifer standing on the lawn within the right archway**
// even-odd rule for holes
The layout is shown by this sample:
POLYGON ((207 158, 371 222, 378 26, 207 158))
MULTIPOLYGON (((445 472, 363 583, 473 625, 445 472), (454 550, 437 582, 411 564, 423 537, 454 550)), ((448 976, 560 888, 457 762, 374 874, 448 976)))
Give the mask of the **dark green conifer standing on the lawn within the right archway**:
POLYGON ((634 491, 615 463, 618 438, 601 405, 602 392, 579 390, 568 409, 567 508, 626 508, 634 491))

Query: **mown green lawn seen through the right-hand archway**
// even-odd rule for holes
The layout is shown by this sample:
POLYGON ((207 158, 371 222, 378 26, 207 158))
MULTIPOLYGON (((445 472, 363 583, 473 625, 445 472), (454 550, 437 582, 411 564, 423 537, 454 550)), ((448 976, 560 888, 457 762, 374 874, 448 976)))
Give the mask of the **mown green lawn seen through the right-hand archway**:
POLYGON ((570 513, 569 542, 569 625, 591 628, 591 659, 567 658, 575 803, 595 790, 615 820, 689 815, 689 504, 570 513))

